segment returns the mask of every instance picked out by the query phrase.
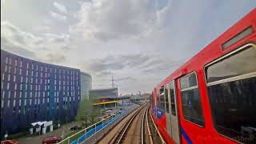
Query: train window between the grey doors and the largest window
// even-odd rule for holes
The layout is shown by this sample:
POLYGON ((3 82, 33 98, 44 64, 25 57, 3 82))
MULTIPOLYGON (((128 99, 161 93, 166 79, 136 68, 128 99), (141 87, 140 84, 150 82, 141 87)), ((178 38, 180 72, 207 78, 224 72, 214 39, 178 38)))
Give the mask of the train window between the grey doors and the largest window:
POLYGON ((181 78, 180 86, 183 117, 199 126, 205 126, 196 73, 181 78))

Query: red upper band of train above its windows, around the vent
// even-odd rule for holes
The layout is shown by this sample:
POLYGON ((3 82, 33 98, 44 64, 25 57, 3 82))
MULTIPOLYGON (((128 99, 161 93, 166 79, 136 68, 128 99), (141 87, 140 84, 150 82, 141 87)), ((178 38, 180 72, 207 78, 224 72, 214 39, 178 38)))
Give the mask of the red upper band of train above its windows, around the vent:
POLYGON ((246 14, 242 19, 231 26, 228 30, 226 30, 223 34, 221 34, 218 38, 214 39, 213 42, 210 42, 204 49, 202 49, 198 54, 195 54, 194 57, 190 58, 185 64, 180 66, 178 70, 175 70, 172 74, 170 74, 167 78, 162 80, 156 88, 165 85, 167 82, 175 78, 179 78, 182 75, 189 74, 194 70, 198 70, 198 67, 205 66, 206 63, 213 61, 213 59, 220 57, 223 54, 230 52, 230 50, 234 50, 235 47, 241 46, 245 42, 250 42, 251 38, 256 37, 256 8, 250 11, 249 14, 246 14), (252 27, 254 29, 253 34, 242 38, 239 42, 234 43, 233 45, 227 47, 225 50, 222 50, 222 45, 229 41, 230 38, 233 38, 235 35, 241 33, 248 27, 252 27), (193 65, 191 65, 193 64, 193 65))

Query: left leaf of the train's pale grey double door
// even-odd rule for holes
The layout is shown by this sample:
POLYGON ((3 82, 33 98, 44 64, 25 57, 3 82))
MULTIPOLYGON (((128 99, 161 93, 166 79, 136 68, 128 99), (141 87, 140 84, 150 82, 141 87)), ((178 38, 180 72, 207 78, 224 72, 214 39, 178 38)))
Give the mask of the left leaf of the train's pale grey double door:
POLYGON ((168 90, 168 84, 164 87, 165 99, 166 99, 166 131, 171 137, 171 119, 170 119, 170 93, 168 90))

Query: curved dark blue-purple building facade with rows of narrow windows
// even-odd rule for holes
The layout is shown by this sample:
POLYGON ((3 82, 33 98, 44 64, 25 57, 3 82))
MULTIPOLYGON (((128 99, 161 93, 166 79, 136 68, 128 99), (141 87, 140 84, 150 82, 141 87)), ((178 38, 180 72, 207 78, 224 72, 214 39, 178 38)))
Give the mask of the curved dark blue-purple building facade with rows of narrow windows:
POLYGON ((68 122, 81 98, 80 70, 1 50, 1 136, 38 121, 68 122))

